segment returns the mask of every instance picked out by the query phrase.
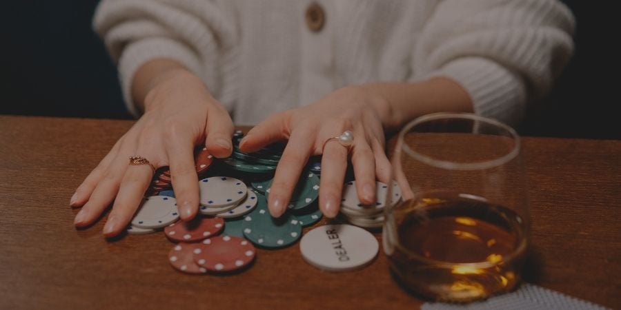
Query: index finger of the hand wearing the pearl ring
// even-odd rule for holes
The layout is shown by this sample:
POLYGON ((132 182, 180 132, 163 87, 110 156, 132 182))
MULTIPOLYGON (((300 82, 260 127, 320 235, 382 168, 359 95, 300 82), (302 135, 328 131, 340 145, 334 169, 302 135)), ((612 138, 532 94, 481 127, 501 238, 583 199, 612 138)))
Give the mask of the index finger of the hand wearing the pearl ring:
POLYGON ((268 199, 270 214, 276 218, 286 211, 302 169, 308 157, 311 156, 314 146, 311 141, 315 141, 314 134, 315 132, 310 127, 296 130, 291 134, 282 153, 268 199))

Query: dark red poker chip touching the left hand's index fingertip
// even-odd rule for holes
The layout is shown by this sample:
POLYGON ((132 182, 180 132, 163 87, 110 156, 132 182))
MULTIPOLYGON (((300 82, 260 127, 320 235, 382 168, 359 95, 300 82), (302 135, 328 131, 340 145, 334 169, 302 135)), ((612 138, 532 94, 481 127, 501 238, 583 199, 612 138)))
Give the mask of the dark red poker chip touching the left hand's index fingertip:
POLYGON ((196 242, 219 234, 224 229, 222 218, 197 216, 190 222, 181 220, 164 227, 164 234, 175 242, 196 242))

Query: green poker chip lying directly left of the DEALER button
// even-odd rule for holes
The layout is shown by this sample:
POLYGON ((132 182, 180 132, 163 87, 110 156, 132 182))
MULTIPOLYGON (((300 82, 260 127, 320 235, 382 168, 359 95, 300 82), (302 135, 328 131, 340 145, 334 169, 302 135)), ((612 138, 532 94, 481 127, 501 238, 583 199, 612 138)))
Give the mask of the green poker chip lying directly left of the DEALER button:
POLYGON ((302 236, 302 225, 293 214, 273 218, 267 207, 259 206, 244 218, 244 236, 259 247, 277 249, 295 243, 302 236))

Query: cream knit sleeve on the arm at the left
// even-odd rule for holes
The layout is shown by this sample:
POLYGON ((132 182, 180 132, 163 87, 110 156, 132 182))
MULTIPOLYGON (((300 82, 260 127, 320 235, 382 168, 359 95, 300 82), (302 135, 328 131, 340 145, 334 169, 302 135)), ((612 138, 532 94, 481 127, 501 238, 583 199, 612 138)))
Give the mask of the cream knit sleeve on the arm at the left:
MULTIPOLYGON (((93 27, 117 63, 121 90, 134 116, 141 113, 132 101, 132 80, 152 59, 173 59, 221 92, 222 70, 235 37, 233 14, 218 1, 103 0, 93 27)), ((230 71, 230 70, 227 70, 230 71)))

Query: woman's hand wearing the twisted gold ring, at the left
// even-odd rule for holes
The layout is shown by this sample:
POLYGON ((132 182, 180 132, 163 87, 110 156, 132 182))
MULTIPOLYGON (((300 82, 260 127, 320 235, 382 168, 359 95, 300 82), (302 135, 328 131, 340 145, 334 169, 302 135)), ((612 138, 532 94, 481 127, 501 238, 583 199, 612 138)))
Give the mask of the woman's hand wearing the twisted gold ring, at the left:
POLYGON ((155 169, 170 167, 179 214, 182 220, 190 220, 199 206, 195 145, 206 143, 208 152, 219 158, 232 152, 233 121, 201 79, 180 66, 154 71, 148 65, 137 76, 140 71, 157 72, 157 76, 144 83, 148 90, 136 90, 139 85, 133 90, 145 94, 145 112, 72 196, 70 205, 81 207, 76 227, 94 223, 114 202, 103 234, 112 237, 124 231, 153 176, 149 165, 129 165, 130 156, 146 158, 155 169))

